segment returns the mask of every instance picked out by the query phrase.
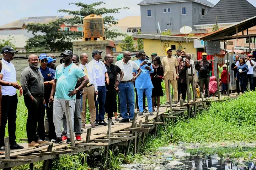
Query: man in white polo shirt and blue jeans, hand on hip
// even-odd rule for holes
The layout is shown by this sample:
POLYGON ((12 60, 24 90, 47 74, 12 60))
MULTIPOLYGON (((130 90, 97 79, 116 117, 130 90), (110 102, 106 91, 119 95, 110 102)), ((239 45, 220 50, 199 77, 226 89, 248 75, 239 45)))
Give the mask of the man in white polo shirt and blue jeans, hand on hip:
MULTIPOLYGON (((139 66, 130 60, 131 54, 129 51, 124 51, 123 59, 116 62, 116 65, 124 72, 124 77, 121 81, 117 81, 116 85, 119 90, 120 104, 121 104, 121 115, 123 117, 119 123, 127 123, 133 120, 134 115, 134 81, 138 78, 141 73, 141 69, 139 66), (133 69, 137 70, 137 74, 133 77, 133 69), (126 97, 128 97, 129 107, 130 107, 130 115, 127 114, 127 105, 126 105, 126 97)), ((120 74, 118 74, 118 79, 120 74)), ((152 102, 151 102, 152 103, 152 102)))

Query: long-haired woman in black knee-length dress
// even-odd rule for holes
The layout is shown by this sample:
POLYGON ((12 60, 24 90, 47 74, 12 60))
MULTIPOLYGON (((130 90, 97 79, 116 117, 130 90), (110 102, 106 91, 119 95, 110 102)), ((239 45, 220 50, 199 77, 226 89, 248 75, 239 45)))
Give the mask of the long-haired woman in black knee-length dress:
MULTIPOLYGON (((156 112, 159 112, 159 106, 160 106, 160 96, 164 96, 164 93, 162 91, 162 78, 164 77, 164 68, 162 67, 161 59, 160 57, 154 57, 153 58, 154 65, 152 66, 154 69, 154 73, 150 74, 151 81, 153 84, 153 90, 152 90, 152 106, 154 106, 155 103, 155 97, 157 98, 157 109, 156 112)), ((153 112, 155 111, 153 107, 153 112)))

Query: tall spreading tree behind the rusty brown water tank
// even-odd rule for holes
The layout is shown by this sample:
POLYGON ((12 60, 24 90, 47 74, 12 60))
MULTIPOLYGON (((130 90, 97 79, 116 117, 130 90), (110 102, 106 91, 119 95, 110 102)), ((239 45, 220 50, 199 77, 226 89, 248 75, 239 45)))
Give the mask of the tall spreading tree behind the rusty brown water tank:
MULTIPOLYGON (((99 8, 98 6, 101 6, 102 4, 106 4, 103 1, 95 2, 92 4, 83 4, 81 2, 79 3, 70 3, 73 5, 76 5, 81 10, 81 16, 88 16, 91 14, 96 15, 108 15, 110 13, 119 13, 119 10, 121 9, 129 9, 128 7, 122 7, 122 8, 113 8, 113 9, 107 9, 105 7, 99 8)), ((69 5, 70 5, 69 4, 69 5)), ((59 10, 58 12, 64 12, 68 13, 69 15, 73 15, 74 18, 66 19, 65 23, 69 23, 71 25, 74 24, 81 24, 80 23, 80 11, 70 11, 70 10, 59 10)), ((117 38, 118 36, 126 36, 126 34, 118 33, 116 29, 109 29, 111 26, 116 25, 118 23, 118 20, 115 19, 113 16, 105 16, 103 17, 104 20, 104 31, 105 36, 107 39, 113 40, 114 38, 117 38)))

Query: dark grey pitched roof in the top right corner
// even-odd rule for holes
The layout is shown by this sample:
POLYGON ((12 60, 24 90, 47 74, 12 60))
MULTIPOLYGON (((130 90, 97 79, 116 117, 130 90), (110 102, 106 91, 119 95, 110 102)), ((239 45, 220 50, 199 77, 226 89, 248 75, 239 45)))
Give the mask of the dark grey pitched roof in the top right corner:
POLYGON ((214 24, 216 17, 218 23, 236 23, 256 16, 256 8, 247 0, 220 0, 196 24, 214 24))

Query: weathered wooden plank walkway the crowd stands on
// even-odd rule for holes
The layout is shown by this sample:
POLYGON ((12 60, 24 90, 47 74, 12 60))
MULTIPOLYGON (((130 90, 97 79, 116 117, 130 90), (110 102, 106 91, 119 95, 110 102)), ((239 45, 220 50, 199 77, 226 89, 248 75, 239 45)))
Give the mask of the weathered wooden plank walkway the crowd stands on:
MULTIPOLYGON (((218 98, 212 98, 211 100, 224 101, 224 100, 218 100, 218 98)), ((24 149, 17 149, 17 150, 10 151, 10 158, 13 161, 5 160, 6 158, 5 152, 1 153, 0 169, 11 168, 13 166, 19 166, 19 165, 24 165, 28 163, 31 164, 31 163, 42 161, 42 160, 61 157, 63 154, 73 154, 73 153, 78 153, 82 151, 89 151, 91 149, 118 144, 124 141, 128 142, 133 140, 135 136, 137 136, 137 132, 144 132, 143 136, 145 137, 145 134, 149 132, 150 129, 153 129, 155 126, 157 126, 157 124, 165 124, 163 122, 160 122, 161 120, 164 120, 165 118, 167 118, 169 121, 169 119, 175 118, 174 115, 177 115, 180 113, 183 114, 185 111, 188 111, 188 108, 191 108, 191 106, 194 106, 194 105, 197 108, 203 109, 202 107, 203 103, 207 103, 208 105, 211 102, 212 101, 197 101, 193 103, 193 101, 190 101, 190 103, 183 103, 183 106, 180 106, 180 104, 173 104, 171 113, 170 113, 170 107, 168 108, 168 106, 164 106, 159 108, 160 111, 158 113, 154 112, 154 115, 149 115, 149 113, 144 113, 142 116, 137 115, 137 119, 134 120, 135 121, 134 123, 136 123, 135 127, 137 126, 138 128, 132 127, 132 123, 119 123, 118 121, 114 120, 114 118, 113 118, 114 125, 111 126, 110 131, 108 131, 107 126, 96 126, 96 128, 90 128, 90 124, 86 124, 85 128, 82 128, 84 130, 84 133, 81 134, 82 140, 75 141, 75 146, 70 146, 65 142, 63 142, 62 144, 53 144, 51 153, 48 152, 49 144, 51 144, 50 142, 43 146, 33 147, 33 148, 28 148, 27 143, 19 143, 19 145, 24 147, 24 149), (156 118, 157 114, 158 114, 158 118, 156 118), (146 120, 146 118, 148 118, 148 120, 146 120), (152 121, 158 121, 159 123, 152 122, 152 121), (139 126, 140 122, 142 122, 141 126, 139 126), (132 129, 129 130, 129 128, 132 128, 132 129), (89 135, 90 143, 86 142, 87 132, 89 132, 90 134, 89 135), (107 139, 108 133, 110 133, 109 139, 107 139), (122 134, 122 135, 118 135, 118 134, 122 134), (24 161, 24 160, 27 160, 27 161, 24 161)))

